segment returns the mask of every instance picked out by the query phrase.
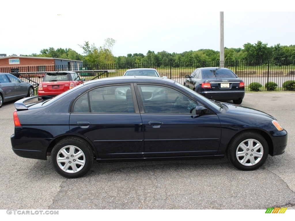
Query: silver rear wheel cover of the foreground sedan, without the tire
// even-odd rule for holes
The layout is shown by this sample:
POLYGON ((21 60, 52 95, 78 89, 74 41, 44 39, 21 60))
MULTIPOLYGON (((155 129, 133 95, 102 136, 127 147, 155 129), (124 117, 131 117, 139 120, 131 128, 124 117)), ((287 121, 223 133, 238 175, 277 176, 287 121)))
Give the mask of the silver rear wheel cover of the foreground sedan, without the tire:
POLYGON ((85 154, 77 146, 64 146, 58 151, 56 161, 66 173, 76 173, 85 165, 85 154))

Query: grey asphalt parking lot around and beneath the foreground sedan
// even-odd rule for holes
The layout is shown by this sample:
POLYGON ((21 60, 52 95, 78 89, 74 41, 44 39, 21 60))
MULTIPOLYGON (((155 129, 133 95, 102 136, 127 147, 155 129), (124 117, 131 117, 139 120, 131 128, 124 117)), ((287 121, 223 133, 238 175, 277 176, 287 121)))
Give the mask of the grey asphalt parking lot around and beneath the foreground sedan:
POLYGON ((295 92, 246 93, 242 103, 276 117, 288 131, 286 152, 255 171, 221 160, 94 163, 67 179, 47 161, 11 149, 14 102, 0 108, 0 209, 267 209, 295 205, 295 92))

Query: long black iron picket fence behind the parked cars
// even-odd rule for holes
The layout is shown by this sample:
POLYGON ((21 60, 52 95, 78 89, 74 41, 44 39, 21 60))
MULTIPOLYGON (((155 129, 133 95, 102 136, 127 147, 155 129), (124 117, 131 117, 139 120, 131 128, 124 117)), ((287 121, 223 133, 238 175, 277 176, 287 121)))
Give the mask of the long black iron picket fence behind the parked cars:
POLYGON ((277 84, 276 90, 285 90, 283 83, 295 80, 295 61, 230 61, 219 63, 219 61, 202 62, 168 62, 168 63, 114 63, 96 64, 93 66, 65 66, 45 65, 26 67, 0 67, 0 72, 9 72, 18 77, 24 77, 38 85, 46 72, 50 71, 76 71, 81 78, 92 80, 94 78, 122 76, 130 68, 155 68, 161 76, 176 80, 178 83, 185 82, 185 76, 190 75, 198 67, 227 67, 237 74, 245 82, 245 90, 249 90, 250 83, 257 82, 262 85, 260 90, 267 90, 268 83, 277 84), (106 71, 111 70, 111 71, 106 71))

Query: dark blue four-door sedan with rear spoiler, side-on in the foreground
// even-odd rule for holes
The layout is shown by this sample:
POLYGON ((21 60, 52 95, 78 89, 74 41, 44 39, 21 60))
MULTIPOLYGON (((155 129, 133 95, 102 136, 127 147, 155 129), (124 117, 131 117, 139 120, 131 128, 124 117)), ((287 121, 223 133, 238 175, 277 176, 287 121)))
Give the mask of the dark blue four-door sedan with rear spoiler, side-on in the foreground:
POLYGON ((91 80, 54 98, 15 104, 15 154, 51 160, 62 176, 86 174, 94 160, 223 158, 254 170, 283 154, 287 132, 259 110, 209 100, 162 77, 91 80))

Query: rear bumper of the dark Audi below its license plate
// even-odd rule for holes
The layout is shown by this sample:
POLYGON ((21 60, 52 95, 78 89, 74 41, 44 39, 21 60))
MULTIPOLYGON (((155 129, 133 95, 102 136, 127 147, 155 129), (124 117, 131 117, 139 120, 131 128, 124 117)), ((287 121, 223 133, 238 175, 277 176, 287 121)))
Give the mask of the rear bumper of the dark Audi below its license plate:
POLYGON ((200 93, 206 98, 226 101, 226 100, 242 100, 245 97, 244 90, 234 90, 234 91, 203 91, 200 93))

